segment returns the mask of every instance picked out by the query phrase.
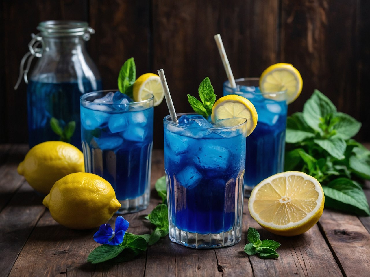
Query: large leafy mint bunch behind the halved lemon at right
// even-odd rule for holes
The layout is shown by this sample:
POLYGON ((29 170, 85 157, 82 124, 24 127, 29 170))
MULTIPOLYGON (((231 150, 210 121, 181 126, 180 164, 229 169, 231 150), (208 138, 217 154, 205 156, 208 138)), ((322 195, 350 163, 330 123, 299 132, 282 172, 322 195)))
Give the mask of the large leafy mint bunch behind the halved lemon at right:
POLYGON ((303 171, 323 186, 325 207, 370 215, 356 179, 370 179, 370 151, 352 139, 361 123, 338 112, 319 90, 287 119, 285 170, 303 171))

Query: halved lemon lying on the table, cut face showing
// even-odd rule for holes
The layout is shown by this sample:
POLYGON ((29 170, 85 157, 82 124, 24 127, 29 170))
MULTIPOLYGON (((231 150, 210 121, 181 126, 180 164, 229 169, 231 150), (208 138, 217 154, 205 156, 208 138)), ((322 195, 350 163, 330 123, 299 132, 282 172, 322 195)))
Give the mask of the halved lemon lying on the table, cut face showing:
POLYGON ((324 192, 312 176, 287 171, 272 175, 253 188, 248 207, 250 215, 269 232, 296 236, 319 221, 324 192))

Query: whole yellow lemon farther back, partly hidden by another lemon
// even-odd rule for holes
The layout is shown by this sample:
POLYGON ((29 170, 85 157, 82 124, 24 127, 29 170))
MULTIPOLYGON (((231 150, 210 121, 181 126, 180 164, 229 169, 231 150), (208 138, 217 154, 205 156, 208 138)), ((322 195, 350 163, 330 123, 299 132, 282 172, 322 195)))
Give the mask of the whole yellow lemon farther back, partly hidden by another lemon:
POLYGON ((36 191, 48 194, 54 183, 74 172, 84 172, 84 155, 63 141, 45 141, 32 147, 18 166, 18 173, 36 191))

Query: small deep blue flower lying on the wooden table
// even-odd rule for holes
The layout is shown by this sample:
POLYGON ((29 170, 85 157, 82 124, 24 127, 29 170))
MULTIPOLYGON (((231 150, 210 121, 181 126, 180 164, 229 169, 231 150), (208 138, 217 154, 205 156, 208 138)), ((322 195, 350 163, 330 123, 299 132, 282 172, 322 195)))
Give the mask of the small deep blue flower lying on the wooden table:
POLYGON ((94 240, 101 244, 118 245, 123 242, 128 225, 129 223, 126 219, 122 216, 117 216, 114 231, 110 224, 103 224, 98 232, 94 234, 94 240))

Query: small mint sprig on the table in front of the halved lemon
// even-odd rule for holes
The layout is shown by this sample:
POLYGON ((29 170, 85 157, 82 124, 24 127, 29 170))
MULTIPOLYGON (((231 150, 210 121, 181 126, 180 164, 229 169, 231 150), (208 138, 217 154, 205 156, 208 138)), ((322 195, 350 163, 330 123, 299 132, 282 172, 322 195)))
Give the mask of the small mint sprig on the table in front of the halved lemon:
POLYGON ((278 258, 279 254, 275 251, 279 248, 280 243, 275 242, 275 240, 259 239, 259 233, 255 228, 248 228, 248 244, 244 247, 244 252, 249 256, 255 255, 258 253, 258 256, 262 259, 273 259, 278 258))

